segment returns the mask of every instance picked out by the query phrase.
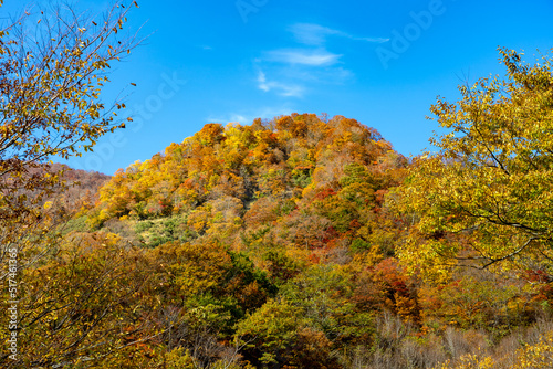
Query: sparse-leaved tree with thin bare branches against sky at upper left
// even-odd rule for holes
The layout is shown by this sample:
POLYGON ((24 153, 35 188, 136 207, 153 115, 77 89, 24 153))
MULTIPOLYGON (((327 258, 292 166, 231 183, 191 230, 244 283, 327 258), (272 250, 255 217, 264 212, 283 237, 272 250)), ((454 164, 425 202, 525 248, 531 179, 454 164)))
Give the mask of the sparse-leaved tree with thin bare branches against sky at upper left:
POLYGON ((121 32, 127 12, 118 2, 102 19, 60 7, 27 12, 0 31, 3 246, 40 224, 40 205, 63 188, 53 157, 81 156, 104 134, 125 127, 117 117, 125 105, 107 105, 101 93, 111 64, 137 45, 121 32))

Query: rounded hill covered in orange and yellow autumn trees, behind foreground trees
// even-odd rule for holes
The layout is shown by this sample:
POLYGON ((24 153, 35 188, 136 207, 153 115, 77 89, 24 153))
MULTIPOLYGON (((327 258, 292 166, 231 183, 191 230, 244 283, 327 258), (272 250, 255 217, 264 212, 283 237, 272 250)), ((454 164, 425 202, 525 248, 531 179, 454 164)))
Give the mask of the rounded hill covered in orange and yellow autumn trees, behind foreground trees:
POLYGON ((208 124, 116 172, 87 221, 101 228, 116 219, 180 215, 166 238, 313 252, 386 247, 396 234, 383 234, 380 207, 406 165, 375 129, 342 116, 208 124))

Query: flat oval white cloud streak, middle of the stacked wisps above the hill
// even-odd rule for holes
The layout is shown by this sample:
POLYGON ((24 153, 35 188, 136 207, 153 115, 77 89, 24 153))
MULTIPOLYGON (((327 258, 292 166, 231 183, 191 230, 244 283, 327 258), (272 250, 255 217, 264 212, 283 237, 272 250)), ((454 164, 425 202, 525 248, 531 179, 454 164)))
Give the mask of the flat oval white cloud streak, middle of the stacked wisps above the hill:
POLYGON ((322 49, 283 49, 268 52, 264 59, 270 62, 292 65, 325 66, 337 63, 341 56, 322 49))

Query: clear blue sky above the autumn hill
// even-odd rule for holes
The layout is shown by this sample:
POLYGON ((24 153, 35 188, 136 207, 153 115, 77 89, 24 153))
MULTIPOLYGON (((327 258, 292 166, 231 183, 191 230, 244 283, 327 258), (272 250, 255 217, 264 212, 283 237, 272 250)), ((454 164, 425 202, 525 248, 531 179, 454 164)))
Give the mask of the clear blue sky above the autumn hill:
MULTIPOLYGON (((2 11, 9 11, 7 0, 2 11)), ((19 1, 18 1, 19 2, 19 1)), ((82 0, 100 12, 111 1, 82 0)), ((438 95, 502 73, 498 46, 553 48, 553 1, 140 0, 131 31, 149 35, 118 64, 105 96, 135 122, 73 167, 112 175, 205 124, 282 114, 343 115, 409 156, 430 148, 438 95), (136 87, 129 87, 129 83, 136 87)))

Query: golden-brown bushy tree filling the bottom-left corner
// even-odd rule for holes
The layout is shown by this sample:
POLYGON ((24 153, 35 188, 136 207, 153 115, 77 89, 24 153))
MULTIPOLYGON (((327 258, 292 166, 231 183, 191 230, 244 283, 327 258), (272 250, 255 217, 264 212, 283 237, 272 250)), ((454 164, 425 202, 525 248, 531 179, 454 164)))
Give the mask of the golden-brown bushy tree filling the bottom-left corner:
MULTIPOLYGON (((56 247, 19 275, 19 352, 2 350, 0 366, 128 368, 129 358, 144 359, 148 348, 137 344, 159 334, 144 253, 103 232, 71 233, 56 247)), ((0 321, 10 337, 7 317, 0 321)))

